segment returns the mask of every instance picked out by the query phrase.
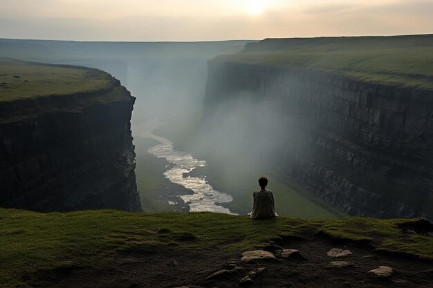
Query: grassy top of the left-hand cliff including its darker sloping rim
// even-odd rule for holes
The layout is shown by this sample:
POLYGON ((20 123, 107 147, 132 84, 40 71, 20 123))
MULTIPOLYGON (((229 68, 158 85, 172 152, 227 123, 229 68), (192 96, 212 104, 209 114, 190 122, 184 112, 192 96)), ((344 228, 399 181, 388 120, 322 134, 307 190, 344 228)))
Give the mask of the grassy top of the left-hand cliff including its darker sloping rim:
POLYGON ((129 95, 98 69, 0 59, 0 122, 80 110, 129 99, 129 95))

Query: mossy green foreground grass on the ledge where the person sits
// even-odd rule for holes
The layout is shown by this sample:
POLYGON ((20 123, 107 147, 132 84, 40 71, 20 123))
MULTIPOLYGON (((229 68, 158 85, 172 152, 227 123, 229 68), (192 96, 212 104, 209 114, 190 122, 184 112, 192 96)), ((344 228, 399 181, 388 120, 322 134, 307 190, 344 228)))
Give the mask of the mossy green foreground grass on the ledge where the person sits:
POLYGON ((36 213, 0 209, 0 287, 26 287, 25 276, 72 266, 110 262, 123 253, 158 247, 200 252, 214 247, 238 256, 284 236, 368 241, 377 251, 433 259, 433 238, 407 234, 398 224, 416 220, 306 220, 280 217, 252 221, 219 213, 77 211, 36 213))

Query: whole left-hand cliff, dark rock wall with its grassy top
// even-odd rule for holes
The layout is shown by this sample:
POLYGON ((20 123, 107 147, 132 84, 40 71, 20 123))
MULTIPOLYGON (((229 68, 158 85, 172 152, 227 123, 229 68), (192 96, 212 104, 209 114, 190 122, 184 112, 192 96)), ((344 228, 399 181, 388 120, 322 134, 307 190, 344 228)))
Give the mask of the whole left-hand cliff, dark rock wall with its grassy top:
POLYGON ((140 211, 125 87, 96 69, 1 64, 0 206, 140 211))

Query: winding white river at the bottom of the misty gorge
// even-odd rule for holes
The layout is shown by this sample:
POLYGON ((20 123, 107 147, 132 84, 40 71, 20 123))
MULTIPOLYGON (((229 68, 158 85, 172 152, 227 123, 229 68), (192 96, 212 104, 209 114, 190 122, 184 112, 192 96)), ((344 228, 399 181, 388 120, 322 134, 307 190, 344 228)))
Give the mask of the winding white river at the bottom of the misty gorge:
MULTIPOLYGON (((179 195, 185 203, 190 205, 190 211, 211 211, 218 213, 229 213, 228 208, 217 205, 217 203, 231 202, 232 196, 216 191, 199 177, 183 177, 183 173, 188 173, 194 168, 205 166, 204 160, 196 160, 191 154, 182 151, 174 151, 173 143, 165 137, 160 137, 153 133, 155 128, 162 126, 158 120, 145 122, 133 127, 135 137, 144 137, 160 142, 147 150, 158 158, 165 158, 174 164, 172 169, 165 171, 164 175, 173 183, 180 184, 187 189, 194 191, 193 195, 179 195)), ((173 203, 169 203, 173 204, 173 203)))

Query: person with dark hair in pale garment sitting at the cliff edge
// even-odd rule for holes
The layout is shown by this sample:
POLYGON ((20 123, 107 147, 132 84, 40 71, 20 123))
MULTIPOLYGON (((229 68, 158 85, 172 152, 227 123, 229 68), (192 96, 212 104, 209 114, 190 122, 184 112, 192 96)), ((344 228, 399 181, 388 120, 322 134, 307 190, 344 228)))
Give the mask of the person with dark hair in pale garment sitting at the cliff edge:
POLYGON ((259 178, 260 191, 252 193, 252 211, 248 213, 251 219, 263 219, 277 217, 275 213, 275 198, 270 190, 266 190, 268 179, 266 177, 259 178))

